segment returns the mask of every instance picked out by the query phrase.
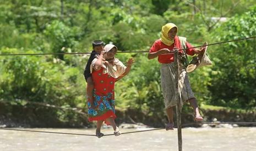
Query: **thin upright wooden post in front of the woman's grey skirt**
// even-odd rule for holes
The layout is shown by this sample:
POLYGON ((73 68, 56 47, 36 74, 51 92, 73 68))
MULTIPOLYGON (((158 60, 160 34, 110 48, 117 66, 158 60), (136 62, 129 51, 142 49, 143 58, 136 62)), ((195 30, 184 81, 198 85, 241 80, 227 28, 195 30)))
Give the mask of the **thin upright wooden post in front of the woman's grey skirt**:
POLYGON ((177 67, 177 72, 176 72, 176 87, 177 87, 177 95, 178 95, 178 100, 177 100, 177 105, 176 105, 176 119, 177 119, 177 129, 178 129, 178 148, 179 151, 182 151, 182 131, 181 131, 181 96, 180 96, 180 92, 179 92, 179 86, 178 86, 178 80, 179 80, 179 59, 178 59, 178 49, 175 48, 175 53, 174 53, 174 58, 175 58, 175 63, 176 63, 176 67, 177 67))

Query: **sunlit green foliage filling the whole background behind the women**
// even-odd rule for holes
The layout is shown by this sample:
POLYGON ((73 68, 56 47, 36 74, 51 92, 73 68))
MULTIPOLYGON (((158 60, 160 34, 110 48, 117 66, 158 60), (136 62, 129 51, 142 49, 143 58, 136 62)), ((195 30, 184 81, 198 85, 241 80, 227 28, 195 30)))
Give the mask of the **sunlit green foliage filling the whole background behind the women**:
MULTIPOLYGON (((118 51, 145 51, 160 38, 167 22, 175 23, 178 35, 195 46, 255 36, 255 7, 243 14, 252 5, 253 0, 195 1, 195 5, 190 0, 0 0, 0 53, 90 52, 95 39, 117 45, 118 51)), ((189 74, 199 102, 255 107, 254 50, 253 40, 209 47, 214 65, 189 74)), ((117 107, 162 114, 160 63, 146 55, 117 55, 124 63, 129 57, 136 60, 129 75, 116 83, 117 107)), ((83 70, 89 55, 0 57, 1 99, 84 106, 83 70)), ((63 121, 73 117, 60 111, 56 115, 63 121)))

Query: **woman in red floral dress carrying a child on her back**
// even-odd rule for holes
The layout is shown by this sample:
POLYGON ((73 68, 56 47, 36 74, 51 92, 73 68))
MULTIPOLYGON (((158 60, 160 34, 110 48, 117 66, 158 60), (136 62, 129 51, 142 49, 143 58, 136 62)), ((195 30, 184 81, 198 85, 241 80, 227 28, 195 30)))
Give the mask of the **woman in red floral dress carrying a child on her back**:
POLYGON ((115 123, 115 82, 127 75, 132 67, 133 59, 124 66, 115 58, 117 47, 107 44, 101 51, 99 58, 91 62, 92 79, 94 81, 93 100, 88 100, 89 121, 97 121, 96 136, 102 137, 100 132, 103 121, 111 125, 115 136, 121 134, 115 123), (105 61, 103 61, 105 60, 105 61))

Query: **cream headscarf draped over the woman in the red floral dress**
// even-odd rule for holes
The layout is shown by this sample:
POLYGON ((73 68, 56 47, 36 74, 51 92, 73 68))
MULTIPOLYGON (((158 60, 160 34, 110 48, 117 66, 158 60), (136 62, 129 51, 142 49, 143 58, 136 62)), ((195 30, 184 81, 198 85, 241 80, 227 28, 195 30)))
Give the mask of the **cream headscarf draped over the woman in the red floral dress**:
MULTIPOLYGON (((117 47, 115 45, 106 44, 103 50, 107 53, 114 47, 117 50, 117 47)), ((97 61, 97 58, 95 58, 91 62, 91 73, 92 73, 92 67, 94 66, 96 61, 97 61)), ((119 61, 116 57, 114 57, 113 63, 108 63, 107 66, 105 66, 104 63, 102 62, 101 67, 104 68, 103 69, 104 74, 107 73, 108 75, 110 75, 113 78, 118 78, 120 75, 122 75, 126 71, 126 66, 124 66, 123 63, 121 61, 119 61)))

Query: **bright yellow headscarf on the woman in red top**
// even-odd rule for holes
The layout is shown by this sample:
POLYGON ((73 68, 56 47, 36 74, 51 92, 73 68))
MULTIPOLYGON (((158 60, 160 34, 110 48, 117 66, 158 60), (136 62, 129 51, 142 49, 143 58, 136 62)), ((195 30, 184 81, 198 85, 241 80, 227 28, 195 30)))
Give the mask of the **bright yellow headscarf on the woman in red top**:
POLYGON ((166 45, 172 45, 174 43, 174 40, 171 40, 168 38, 168 32, 171 30, 171 28, 176 27, 178 31, 178 27, 173 23, 168 23, 162 26, 162 32, 161 32, 161 42, 166 45))

